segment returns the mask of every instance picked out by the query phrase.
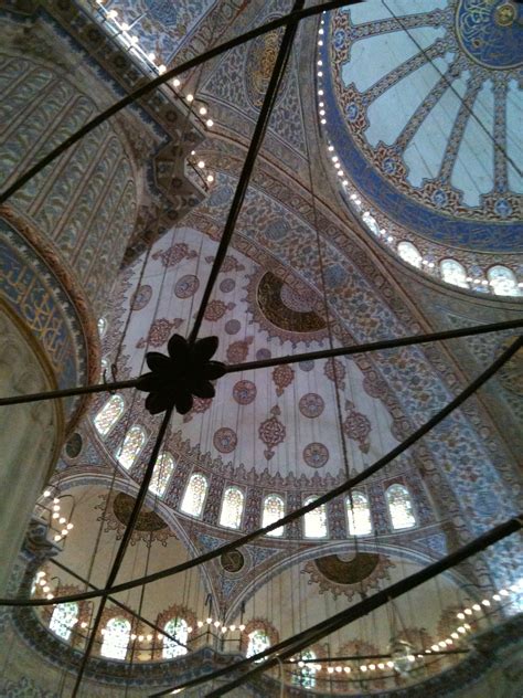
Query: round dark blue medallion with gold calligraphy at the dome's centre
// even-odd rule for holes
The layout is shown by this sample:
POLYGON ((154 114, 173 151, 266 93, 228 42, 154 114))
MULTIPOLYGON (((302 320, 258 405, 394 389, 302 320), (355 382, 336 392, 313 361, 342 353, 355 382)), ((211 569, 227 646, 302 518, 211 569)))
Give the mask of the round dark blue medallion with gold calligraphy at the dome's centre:
POLYGON ((456 33, 476 62, 491 68, 523 65, 523 6, 508 0, 459 0, 456 33))

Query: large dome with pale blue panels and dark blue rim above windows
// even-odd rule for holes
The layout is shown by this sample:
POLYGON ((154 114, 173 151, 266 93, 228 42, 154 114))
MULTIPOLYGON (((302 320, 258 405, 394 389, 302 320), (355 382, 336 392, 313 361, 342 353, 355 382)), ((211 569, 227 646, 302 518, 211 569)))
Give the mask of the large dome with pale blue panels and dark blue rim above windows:
POLYGON ((364 198, 395 241, 483 267, 523 251, 522 18, 506 0, 383 0, 324 15, 329 155, 351 203, 364 198))

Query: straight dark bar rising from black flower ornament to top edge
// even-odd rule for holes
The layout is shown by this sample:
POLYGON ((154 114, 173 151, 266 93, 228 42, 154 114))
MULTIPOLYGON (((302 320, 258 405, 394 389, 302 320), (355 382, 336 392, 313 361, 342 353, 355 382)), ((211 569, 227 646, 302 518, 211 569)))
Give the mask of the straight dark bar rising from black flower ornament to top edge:
MULTIPOLYGON (((305 0, 295 0, 292 10, 301 10, 303 8, 303 4, 305 0)), ((290 14, 292 15, 292 12, 290 14)), ((189 343, 191 345, 196 340, 198 332, 200 331, 200 327, 202 325, 205 308, 211 298, 211 294, 213 292, 214 284, 216 283, 216 278, 222 267, 223 261, 225 260, 225 254, 227 252, 228 245, 231 244, 236 221, 238 219, 239 211, 242 210, 245 194, 247 193, 247 187, 250 181, 250 176, 253 173, 254 166, 256 165, 258 152, 265 137, 265 131, 267 130, 270 115, 273 114, 273 108, 276 104, 279 87, 281 85, 287 63, 290 57, 290 52, 292 50, 292 44, 297 30, 298 20, 290 20, 290 22, 286 27, 284 38, 281 39, 278 55, 276 57, 273 73, 270 75, 270 81, 265 93, 264 103, 262 105, 262 109, 259 110, 253 137, 250 138, 249 147, 245 157, 242 172, 239 174, 238 183, 236 184, 233 203, 231 204, 227 220, 225 222, 225 228, 222 233, 222 239, 216 251, 216 256, 214 257, 213 266, 211 268, 211 273, 209 275, 205 289, 203 292, 202 300, 200 303, 200 308, 198 309, 196 318, 189 336, 189 343)))

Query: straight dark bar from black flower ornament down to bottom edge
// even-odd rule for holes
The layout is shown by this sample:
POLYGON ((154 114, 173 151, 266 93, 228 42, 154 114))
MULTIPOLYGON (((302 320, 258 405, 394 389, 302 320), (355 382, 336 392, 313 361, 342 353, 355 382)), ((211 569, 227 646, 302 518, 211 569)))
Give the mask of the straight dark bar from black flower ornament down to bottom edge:
POLYGON ((156 463, 157 463, 157 459, 158 459, 158 454, 160 453, 160 447, 162 445, 163 437, 166 435, 166 431, 167 431, 167 429, 169 426, 169 422, 171 420, 172 412, 173 412, 173 409, 170 408, 169 410, 166 411, 166 414, 163 415, 163 420, 162 420, 162 423, 161 423, 160 429, 158 431, 157 440, 154 442, 154 446, 152 448, 152 453, 150 455, 149 463, 147 465, 147 469, 146 469, 146 473, 143 475, 143 479, 142 479, 141 485, 140 485, 140 489, 138 490, 138 495, 137 495, 137 498, 135 500, 135 506, 132 507, 132 511, 131 511, 131 515, 129 517, 129 521, 128 521, 128 524, 126 526, 126 529, 124 531, 124 536, 121 538, 120 546, 119 546, 118 551, 116 553, 116 558, 115 558, 115 560, 113 562, 113 567, 111 567, 111 570, 109 572, 109 577, 107 578, 107 582, 106 582, 105 589, 104 589, 104 591, 102 593, 96 592, 97 595, 100 596, 100 603, 99 603, 99 606, 98 606, 98 611, 96 613, 95 622, 93 624, 93 627, 90 628, 89 639, 87 641, 87 645, 86 645, 86 648, 84 651, 84 654, 83 654, 83 657, 82 657, 82 662, 79 664, 78 674, 76 675, 76 681, 75 681, 75 685, 74 685, 74 688, 73 688, 72 698, 76 698, 76 696, 78 695, 78 690, 79 690, 79 687, 81 687, 81 684, 82 684, 82 679, 84 677, 85 668, 87 666, 87 662, 89 659, 89 655, 90 655, 90 652, 93 649, 93 645, 95 643, 96 633, 98 631, 98 627, 99 627, 99 624, 100 624, 100 621, 102 621, 102 616, 103 616, 103 613, 104 613, 104 609, 105 609, 105 605, 106 605, 106 602, 107 602, 107 596, 109 595, 110 588, 114 585, 115 580, 116 580, 116 578, 118 575, 118 572, 119 572, 120 567, 121 567, 121 562, 124 560, 125 553, 126 553, 127 548, 129 546, 129 542, 131 540, 131 536, 132 536, 132 533, 135 531, 135 527, 136 527, 136 524, 137 524, 137 520, 138 520, 138 516, 140 514, 142 504, 143 504, 143 501, 146 499, 146 496, 148 494, 148 490, 149 490, 149 484, 151 482, 152 473, 154 470, 154 466, 156 466, 156 463))

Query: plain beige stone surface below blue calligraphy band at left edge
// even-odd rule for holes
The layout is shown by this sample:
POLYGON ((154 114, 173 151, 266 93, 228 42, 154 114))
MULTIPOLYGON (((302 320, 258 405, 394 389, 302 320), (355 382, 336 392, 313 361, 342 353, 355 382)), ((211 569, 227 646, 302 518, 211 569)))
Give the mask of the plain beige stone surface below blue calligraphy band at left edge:
MULTIPOLYGON (((0 395, 55 387, 45 355, 0 304, 0 395)), ((63 441, 60 401, 0 408, 0 596, 63 441)))

